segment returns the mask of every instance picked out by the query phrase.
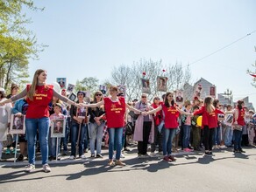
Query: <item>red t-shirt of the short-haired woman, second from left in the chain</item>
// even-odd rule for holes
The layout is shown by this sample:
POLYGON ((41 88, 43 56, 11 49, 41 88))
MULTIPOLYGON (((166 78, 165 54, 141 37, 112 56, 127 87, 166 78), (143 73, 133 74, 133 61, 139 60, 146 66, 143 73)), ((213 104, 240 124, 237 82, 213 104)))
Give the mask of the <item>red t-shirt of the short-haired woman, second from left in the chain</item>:
POLYGON ((124 127, 124 113, 126 109, 124 97, 119 97, 118 101, 112 101, 108 97, 103 99, 108 128, 124 127))

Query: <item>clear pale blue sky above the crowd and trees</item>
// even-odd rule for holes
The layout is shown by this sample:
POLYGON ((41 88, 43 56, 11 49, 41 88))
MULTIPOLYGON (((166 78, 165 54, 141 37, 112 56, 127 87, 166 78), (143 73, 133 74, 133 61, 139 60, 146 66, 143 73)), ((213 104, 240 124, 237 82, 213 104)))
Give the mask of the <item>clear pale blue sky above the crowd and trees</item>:
MULTIPOLYGON (((43 12, 26 10, 39 43, 49 45, 31 60, 30 74, 48 71, 48 82, 67 77, 110 78, 113 66, 132 65, 140 58, 164 65, 193 63, 247 33, 256 30, 253 0, 104 0, 35 1, 43 12)), ((256 60, 256 32, 236 44, 190 65, 195 82, 203 77, 229 88, 234 98, 250 96, 256 106, 256 89, 246 74, 256 60)))

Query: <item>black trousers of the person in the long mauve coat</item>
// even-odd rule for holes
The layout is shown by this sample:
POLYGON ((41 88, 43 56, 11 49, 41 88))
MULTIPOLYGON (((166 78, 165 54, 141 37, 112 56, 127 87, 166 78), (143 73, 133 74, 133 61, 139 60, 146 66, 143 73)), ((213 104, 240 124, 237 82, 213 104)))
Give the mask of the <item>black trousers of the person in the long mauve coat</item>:
POLYGON ((143 122, 143 141, 138 142, 138 154, 146 154, 147 143, 149 139, 149 134, 151 131, 152 122, 144 121, 143 122))

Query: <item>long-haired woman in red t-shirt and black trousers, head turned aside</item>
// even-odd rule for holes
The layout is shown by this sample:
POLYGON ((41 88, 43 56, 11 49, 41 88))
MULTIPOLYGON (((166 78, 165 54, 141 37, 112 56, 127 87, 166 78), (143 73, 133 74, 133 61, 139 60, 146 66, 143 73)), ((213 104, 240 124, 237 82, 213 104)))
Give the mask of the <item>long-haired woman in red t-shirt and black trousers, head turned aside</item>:
POLYGON ((214 130, 217 127, 217 113, 222 113, 213 106, 212 97, 206 97, 203 102, 203 106, 194 112, 194 115, 202 114, 202 126, 204 129, 204 149, 205 155, 212 156, 212 141, 214 130))

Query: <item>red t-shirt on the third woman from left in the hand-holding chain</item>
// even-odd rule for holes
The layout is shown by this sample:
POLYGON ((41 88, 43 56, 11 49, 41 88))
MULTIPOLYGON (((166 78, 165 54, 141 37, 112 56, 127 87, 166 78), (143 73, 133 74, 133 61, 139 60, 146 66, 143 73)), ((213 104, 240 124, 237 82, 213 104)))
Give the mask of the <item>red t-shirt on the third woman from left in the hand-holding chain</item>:
POLYGON ((165 106, 164 103, 160 104, 162 106, 162 111, 165 116, 165 128, 177 128, 179 127, 178 117, 180 112, 176 109, 176 104, 174 106, 165 106))

